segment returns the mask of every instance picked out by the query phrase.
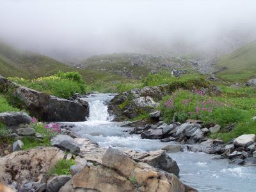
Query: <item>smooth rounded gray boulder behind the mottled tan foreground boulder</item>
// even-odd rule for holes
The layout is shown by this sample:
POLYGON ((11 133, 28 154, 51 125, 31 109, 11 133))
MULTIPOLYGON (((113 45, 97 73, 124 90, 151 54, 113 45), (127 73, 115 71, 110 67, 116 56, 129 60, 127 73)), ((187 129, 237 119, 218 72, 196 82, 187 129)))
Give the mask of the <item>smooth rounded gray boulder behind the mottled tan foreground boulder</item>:
POLYGON ((80 148, 77 145, 76 141, 70 136, 58 134, 51 139, 51 145, 58 147, 62 150, 67 150, 71 154, 77 155, 80 152, 80 148))

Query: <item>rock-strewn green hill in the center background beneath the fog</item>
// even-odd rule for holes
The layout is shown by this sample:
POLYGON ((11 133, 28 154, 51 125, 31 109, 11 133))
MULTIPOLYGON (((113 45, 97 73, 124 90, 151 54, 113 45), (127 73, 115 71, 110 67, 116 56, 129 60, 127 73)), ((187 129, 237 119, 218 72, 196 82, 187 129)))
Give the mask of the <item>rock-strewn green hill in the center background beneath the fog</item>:
POLYGON ((93 56, 77 65, 81 68, 95 69, 99 72, 112 72, 117 75, 140 79, 148 72, 159 70, 187 69, 197 70, 198 63, 186 58, 156 56, 152 54, 114 53, 93 56))

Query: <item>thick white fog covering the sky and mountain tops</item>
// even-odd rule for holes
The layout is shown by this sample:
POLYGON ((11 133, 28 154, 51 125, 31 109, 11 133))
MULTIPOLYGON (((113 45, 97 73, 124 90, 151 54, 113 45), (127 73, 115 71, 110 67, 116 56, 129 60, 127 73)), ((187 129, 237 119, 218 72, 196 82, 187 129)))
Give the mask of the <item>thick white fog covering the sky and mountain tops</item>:
POLYGON ((61 61, 95 54, 221 54, 256 36, 256 1, 0 0, 0 40, 61 61))

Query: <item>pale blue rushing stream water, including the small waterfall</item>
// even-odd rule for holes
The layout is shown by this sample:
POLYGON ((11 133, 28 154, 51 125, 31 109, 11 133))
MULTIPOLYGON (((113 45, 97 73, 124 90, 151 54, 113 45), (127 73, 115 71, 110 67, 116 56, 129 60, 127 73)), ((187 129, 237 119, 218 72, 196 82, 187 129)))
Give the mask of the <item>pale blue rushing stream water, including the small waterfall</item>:
MULTIPOLYGON (((132 148, 138 151, 158 150, 173 142, 141 139, 130 135, 125 122, 111 122, 108 113, 111 94, 89 95, 90 115, 85 122, 75 123, 74 132, 89 138, 100 147, 132 148)), ((74 123, 72 123, 74 124, 74 123)), ((177 152, 169 154, 180 168, 180 180, 198 191, 256 191, 256 166, 228 164, 227 159, 212 159, 214 156, 200 152, 177 152)))

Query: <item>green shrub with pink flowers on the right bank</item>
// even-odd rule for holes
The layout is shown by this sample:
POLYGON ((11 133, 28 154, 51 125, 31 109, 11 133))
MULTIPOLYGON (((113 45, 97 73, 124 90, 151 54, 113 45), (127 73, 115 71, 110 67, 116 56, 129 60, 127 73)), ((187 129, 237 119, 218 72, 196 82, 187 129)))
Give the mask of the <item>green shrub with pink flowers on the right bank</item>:
POLYGON ((203 120, 205 125, 220 124, 221 127, 239 122, 245 116, 241 109, 232 107, 229 102, 221 102, 198 90, 178 91, 164 97, 161 112, 166 122, 175 118, 182 123, 192 118, 203 120))

